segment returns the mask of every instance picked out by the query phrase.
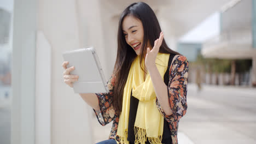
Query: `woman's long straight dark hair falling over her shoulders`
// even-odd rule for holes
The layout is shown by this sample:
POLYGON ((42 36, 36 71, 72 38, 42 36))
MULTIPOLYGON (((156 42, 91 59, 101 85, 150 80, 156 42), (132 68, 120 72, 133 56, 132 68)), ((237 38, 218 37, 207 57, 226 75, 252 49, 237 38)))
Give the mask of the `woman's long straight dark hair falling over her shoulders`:
MULTIPOLYGON (((118 26, 118 52, 114 66, 115 86, 113 90, 113 106, 118 114, 120 114, 122 109, 124 86, 129 70, 133 60, 137 56, 132 47, 126 43, 125 36, 123 34, 123 20, 126 16, 133 16, 142 22, 144 37, 143 45, 141 46, 141 56, 146 56, 148 40, 150 45, 154 46, 154 41, 159 38, 161 32, 161 28, 154 11, 144 2, 132 3, 121 14, 118 26)), ((167 46, 165 39, 162 40, 159 52, 179 54, 167 46)), ((143 64, 142 61, 143 59, 141 58, 141 66, 143 64)))

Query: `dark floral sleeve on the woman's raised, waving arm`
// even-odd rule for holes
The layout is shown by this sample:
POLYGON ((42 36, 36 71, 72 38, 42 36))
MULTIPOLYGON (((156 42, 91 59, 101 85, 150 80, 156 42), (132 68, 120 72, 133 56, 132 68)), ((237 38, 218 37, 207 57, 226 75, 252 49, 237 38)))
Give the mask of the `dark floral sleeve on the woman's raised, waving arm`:
POLYGON ((187 112, 188 68, 188 60, 182 55, 176 57, 170 67, 167 92, 172 115, 167 116, 156 99, 156 106, 167 122, 178 122, 187 112))

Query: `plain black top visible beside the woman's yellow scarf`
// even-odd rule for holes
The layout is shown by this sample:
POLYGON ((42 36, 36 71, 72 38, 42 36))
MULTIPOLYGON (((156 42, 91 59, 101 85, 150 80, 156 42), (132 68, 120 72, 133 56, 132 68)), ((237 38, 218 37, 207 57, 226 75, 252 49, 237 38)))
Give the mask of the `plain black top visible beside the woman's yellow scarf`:
MULTIPOLYGON (((170 65, 172 63, 172 59, 174 56, 175 56, 174 54, 170 54, 169 61, 168 61, 168 68, 164 75, 164 82, 165 82, 166 86, 168 86, 168 82, 169 82, 168 75, 169 75, 170 65)), ((136 114, 137 114, 137 109, 138 109, 138 103, 139 103, 139 100, 137 98, 133 97, 132 92, 131 92, 128 137, 127 137, 127 140, 130 142, 130 144, 133 144, 135 141, 134 124, 135 124, 135 119, 136 119, 136 114)), ((169 127, 168 122, 165 119, 164 119, 164 131, 162 134, 161 142, 165 143, 165 144, 172 144, 170 127, 169 127)), ((149 143, 149 141, 147 140, 146 143, 149 143)))

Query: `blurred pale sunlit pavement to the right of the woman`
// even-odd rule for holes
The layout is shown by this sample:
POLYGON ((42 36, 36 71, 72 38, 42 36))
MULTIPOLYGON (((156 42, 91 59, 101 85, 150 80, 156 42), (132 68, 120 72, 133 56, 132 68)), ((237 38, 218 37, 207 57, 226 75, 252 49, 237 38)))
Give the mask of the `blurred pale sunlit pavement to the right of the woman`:
POLYGON ((179 131, 194 143, 256 143, 256 89, 189 84, 179 131))

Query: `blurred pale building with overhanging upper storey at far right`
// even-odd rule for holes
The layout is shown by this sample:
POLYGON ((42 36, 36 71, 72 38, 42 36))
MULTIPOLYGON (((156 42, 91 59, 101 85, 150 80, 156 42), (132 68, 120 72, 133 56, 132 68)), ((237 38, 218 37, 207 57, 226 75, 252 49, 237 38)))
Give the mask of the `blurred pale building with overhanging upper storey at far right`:
POLYGON ((220 78, 218 83, 256 85, 254 5, 254 1, 233 1, 224 5, 219 13, 220 33, 203 43, 203 57, 221 61, 216 62, 220 65, 215 70, 216 77, 220 78), (221 77, 224 73, 230 76, 221 77))

